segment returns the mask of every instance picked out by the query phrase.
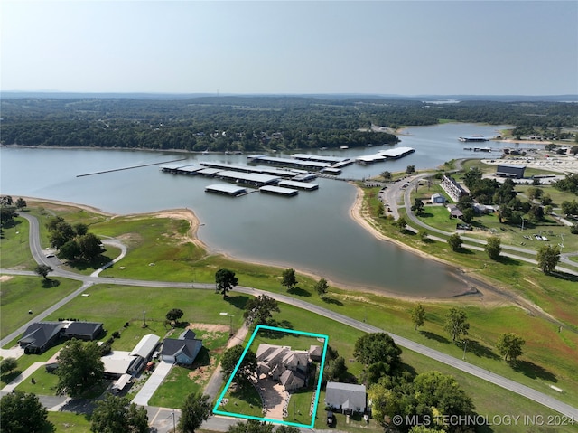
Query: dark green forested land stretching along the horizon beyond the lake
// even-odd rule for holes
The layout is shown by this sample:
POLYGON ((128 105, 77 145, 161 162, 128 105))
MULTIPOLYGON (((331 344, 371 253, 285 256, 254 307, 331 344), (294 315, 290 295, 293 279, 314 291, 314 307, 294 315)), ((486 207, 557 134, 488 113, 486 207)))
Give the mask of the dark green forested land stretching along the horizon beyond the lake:
POLYGON ((266 151, 395 144, 372 125, 441 119, 516 127, 578 125, 578 104, 416 99, 224 96, 191 99, 3 99, 2 145, 266 151))

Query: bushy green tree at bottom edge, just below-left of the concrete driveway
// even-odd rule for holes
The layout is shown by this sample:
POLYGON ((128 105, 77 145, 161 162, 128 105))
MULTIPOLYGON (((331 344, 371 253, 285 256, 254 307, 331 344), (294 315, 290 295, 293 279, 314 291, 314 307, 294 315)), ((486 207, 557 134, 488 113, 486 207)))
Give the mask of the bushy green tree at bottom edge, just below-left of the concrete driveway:
POLYGON ((95 433, 148 433, 148 415, 126 397, 107 394, 97 401, 92 412, 90 431, 95 433))

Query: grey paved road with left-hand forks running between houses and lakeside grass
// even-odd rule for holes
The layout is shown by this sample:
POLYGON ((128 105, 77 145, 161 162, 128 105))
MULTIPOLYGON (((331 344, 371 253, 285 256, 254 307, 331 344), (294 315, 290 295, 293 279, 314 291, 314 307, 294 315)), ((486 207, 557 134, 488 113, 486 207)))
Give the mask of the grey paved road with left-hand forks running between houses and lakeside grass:
MULTIPOLYGON (((31 245, 32 253, 33 253, 33 258, 36 261, 38 261, 39 263, 45 263, 49 266, 53 266, 53 263, 50 261, 50 259, 44 257, 44 254, 42 253, 42 248, 40 246, 40 236, 39 236, 39 231, 38 231, 38 220, 36 220, 36 218, 34 218, 31 215, 26 215, 26 214, 21 213, 21 216, 23 216, 23 218, 25 218, 27 221, 30 222, 30 245, 31 245)), ((14 271, 11 269, 0 269, 0 273, 2 273, 2 274, 14 274, 14 275, 34 275, 34 273, 32 271, 14 271)), ((57 304, 55 304, 54 306, 52 306, 51 308, 49 308, 45 312, 42 312, 42 314, 34 317, 34 319, 31 322, 29 322, 29 324, 33 323, 33 322, 37 322, 38 320, 41 320, 42 318, 51 314, 51 312, 55 311, 60 306, 66 304, 68 301, 70 301, 70 299, 79 296, 79 294, 82 293, 84 290, 86 290, 87 287, 90 287, 96 283, 121 284, 121 285, 141 286, 141 287, 192 288, 191 283, 173 283, 173 282, 165 282, 165 281, 139 281, 139 280, 134 280, 134 279, 126 279, 126 278, 100 278, 97 276, 83 276, 83 275, 75 274, 75 273, 70 272, 70 271, 62 270, 61 268, 54 268, 52 275, 64 277, 64 278, 72 278, 72 279, 82 281, 82 286, 78 290, 76 290, 74 293, 70 294, 70 296, 65 297, 64 299, 59 301, 57 304)), ((195 288, 214 290, 215 286, 213 284, 195 284, 195 288)), ((266 291, 252 288, 252 287, 236 287, 235 289, 236 289, 236 291, 238 291, 240 293, 245 293, 245 294, 253 295, 253 296, 259 296, 261 294, 266 294, 269 297, 274 297, 279 302, 283 302, 285 304, 291 304, 294 306, 298 306, 300 308, 307 309, 307 310, 311 311, 312 313, 315 313, 318 315, 323 315, 325 317, 330 318, 331 320, 335 320, 335 321, 340 322, 341 324, 344 324, 344 325, 349 325, 351 327, 354 327, 354 328, 359 329, 359 330, 364 331, 364 332, 368 332, 368 333, 387 332, 387 334, 390 334, 392 336, 392 338, 394 339, 396 344, 399 344, 401 347, 405 347, 406 349, 415 351, 417 353, 421 353, 421 354, 428 356, 428 357, 430 357, 436 361, 443 362, 443 363, 450 365, 450 366, 452 366, 458 370, 461 370, 462 372, 468 372, 468 373, 472 374, 473 376, 476 376, 480 379, 483 379, 485 381, 489 381, 489 382, 494 383, 494 384, 496 384, 502 388, 505 388, 509 391, 513 391, 519 395, 527 397, 527 399, 534 400, 534 401, 544 405, 547 408, 553 409, 553 410, 563 414, 566 417, 569 417, 569 418, 574 419, 574 420, 578 420, 578 409, 573 408, 572 406, 570 406, 570 405, 568 405, 562 401, 556 400, 555 398, 553 398, 549 395, 546 395, 540 391, 536 391, 532 388, 529 388, 526 385, 522 385, 520 383, 517 383, 517 381, 511 381, 505 377, 499 376, 498 374, 494 374, 492 372, 489 372, 488 370, 481 369, 480 367, 478 367, 476 365, 472 365, 469 362, 465 362, 465 361, 459 360, 457 358, 454 358, 454 357, 452 357, 446 353, 442 353, 442 352, 433 350, 432 348, 424 346, 423 344, 415 343, 411 340, 408 340, 405 337, 402 337, 402 336, 399 336, 396 334, 391 334, 387 330, 380 329, 376 326, 368 325, 368 324, 363 323, 363 322, 359 322, 358 320, 352 319, 346 315, 340 315, 339 313, 335 313, 335 312, 333 312, 327 308, 323 308, 322 306, 315 306, 315 305, 312 305, 312 304, 305 302, 301 299, 295 299, 294 297, 288 297, 288 296, 283 295, 283 294, 275 294, 275 293, 271 293, 271 292, 266 292, 266 291)), ((14 333, 3 338, 0 341, 0 346, 3 346, 5 344, 9 343, 15 337, 22 334, 29 324, 23 325, 20 329, 14 331, 14 333)))

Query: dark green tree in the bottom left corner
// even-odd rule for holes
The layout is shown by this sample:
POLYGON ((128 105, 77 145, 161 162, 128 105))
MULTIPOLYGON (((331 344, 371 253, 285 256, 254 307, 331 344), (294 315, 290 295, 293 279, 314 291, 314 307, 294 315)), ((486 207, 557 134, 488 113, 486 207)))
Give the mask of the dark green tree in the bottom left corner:
POLYGON ((52 426, 46 410, 35 394, 14 390, 0 400, 4 433, 48 431, 52 426))

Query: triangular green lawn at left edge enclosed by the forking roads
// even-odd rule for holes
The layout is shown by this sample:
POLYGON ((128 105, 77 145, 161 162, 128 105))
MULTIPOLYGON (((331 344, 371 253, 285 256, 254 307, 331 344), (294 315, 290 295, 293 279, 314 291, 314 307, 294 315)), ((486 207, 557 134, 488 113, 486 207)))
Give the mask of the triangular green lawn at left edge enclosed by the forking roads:
POLYGON ((80 287, 79 281, 68 278, 4 276, 0 291, 0 337, 14 332, 34 315, 44 311, 55 302, 67 297, 80 287), (28 311, 32 310, 33 315, 28 311))

